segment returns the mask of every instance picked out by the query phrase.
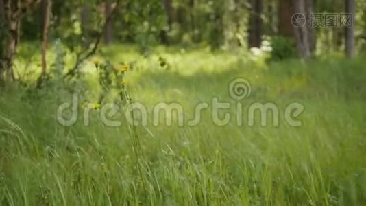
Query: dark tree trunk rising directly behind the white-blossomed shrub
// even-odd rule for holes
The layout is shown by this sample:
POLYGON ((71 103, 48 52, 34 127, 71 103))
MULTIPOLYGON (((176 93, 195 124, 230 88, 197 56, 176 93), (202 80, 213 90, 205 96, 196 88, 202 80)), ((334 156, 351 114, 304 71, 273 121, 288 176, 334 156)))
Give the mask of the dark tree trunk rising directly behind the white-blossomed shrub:
POLYGON ((249 49, 252 47, 260 47, 262 44, 262 12, 263 12, 263 0, 249 0, 252 6, 252 12, 249 17, 249 49))

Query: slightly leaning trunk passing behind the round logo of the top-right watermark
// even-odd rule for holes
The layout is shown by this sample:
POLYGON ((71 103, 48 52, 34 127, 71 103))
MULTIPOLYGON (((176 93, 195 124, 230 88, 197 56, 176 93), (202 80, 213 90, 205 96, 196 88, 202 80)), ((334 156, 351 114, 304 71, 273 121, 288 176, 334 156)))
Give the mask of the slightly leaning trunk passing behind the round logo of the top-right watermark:
MULTIPOLYGON (((306 14, 306 0, 293 0, 293 5, 295 5, 295 13, 306 14)), ((308 38, 308 26, 303 27, 293 27, 295 33, 295 40, 297 49, 299 50, 302 58, 307 60, 310 58, 310 46, 308 38)))

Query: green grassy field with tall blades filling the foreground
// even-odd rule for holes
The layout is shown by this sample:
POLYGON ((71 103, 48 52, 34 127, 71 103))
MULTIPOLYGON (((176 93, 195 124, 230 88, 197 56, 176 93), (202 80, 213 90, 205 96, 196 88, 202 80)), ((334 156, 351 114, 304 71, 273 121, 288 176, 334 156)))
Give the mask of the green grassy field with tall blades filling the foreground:
MULTIPOLYGON (((66 56, 66 64, 71 59, 66 56)), ((248 126, 245 116, 238 126, 231 108, 226 126, 216 126, 208 110, 192 127, 154 126, 149 118, 131 130, 121 114, 122 125, 110 127, 99 111, 91 112, 89 126, 80 115, 66 127, 56 110, 71 102, 71 93, 14 85, 0 93, 0 205, 366 204, 365 58, 265 62, 241 51, 164 48, 143 58, 118 46, 95 59, 132 65, 127 89, 149 115, 158 102, 179 103, 187 117, 212 98, 241 102, 244 111, 254 102, 273 102, 279 126, 248 126), (251 82, 249 98, 230 98, 235 78, 251 82), (284 121, 291 102, 305 108, 300 127, 284 121)), ((16 62, 22 73, 25 62, 16 62)), ((32 63, 27 71, 36 70, 32 63)), ((83 71, 96 98, 93 63, 83 71)))

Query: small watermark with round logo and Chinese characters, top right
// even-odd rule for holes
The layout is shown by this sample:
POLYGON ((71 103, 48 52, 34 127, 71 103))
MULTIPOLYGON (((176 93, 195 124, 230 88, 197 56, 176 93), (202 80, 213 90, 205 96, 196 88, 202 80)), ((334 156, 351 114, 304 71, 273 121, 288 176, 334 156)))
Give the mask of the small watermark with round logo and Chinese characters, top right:
POLYGON ((291 18, 294 27, 321 28, 321 27, 353 27, 353 14, 337 14, 337 13, 310 13, 307 18, 305 14, 296 13, 291 18), (307 24, 306 24, 307 23, 307 24))

